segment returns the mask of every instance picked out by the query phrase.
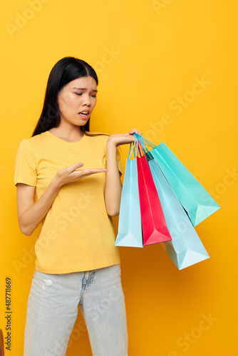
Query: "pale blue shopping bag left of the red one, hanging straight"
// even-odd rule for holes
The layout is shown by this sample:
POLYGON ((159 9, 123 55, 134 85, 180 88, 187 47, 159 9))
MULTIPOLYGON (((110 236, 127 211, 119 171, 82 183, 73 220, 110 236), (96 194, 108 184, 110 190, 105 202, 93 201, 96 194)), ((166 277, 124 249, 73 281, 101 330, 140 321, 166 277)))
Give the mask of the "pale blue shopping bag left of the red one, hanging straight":
POLYGON ((143 247, 137 163, 136 158, 130 159, 133 150, 135 152, 135 145, 133 149, 131 147, 132 145, 130 145, 129 156, 125 164, 115 246, 143 247))

